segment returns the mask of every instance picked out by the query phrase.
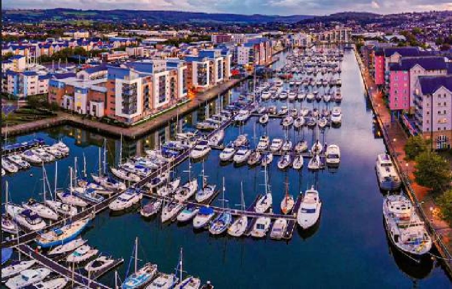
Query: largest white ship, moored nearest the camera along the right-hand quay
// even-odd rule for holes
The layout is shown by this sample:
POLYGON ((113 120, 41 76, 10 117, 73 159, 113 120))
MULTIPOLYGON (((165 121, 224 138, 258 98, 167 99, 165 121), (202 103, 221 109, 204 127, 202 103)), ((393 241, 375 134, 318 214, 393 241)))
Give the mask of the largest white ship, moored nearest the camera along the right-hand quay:
POLYGON ((411 201, 402 194, 383 198, 384 226, 391 243, 411 256, 427 254, 432 240, 411 201))

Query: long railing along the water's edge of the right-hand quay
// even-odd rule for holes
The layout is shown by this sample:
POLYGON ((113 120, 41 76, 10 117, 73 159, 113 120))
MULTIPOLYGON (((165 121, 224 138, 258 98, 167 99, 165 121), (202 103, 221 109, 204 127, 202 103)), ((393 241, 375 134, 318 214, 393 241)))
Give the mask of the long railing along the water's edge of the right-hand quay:
MULTIPOLYGON (((369 93, 368 93, 369 88, 368 88, 368 85, 367 85, 367 82, 366 82, 366 78, 364 77, 364 74, 363 74, 363 67, 364 66, 362 64, 361 57, 357 53, 356 47, 355 47, 354 50, 355 50, 356 59, 358 60, 358 65, 360 67, 361 76, 362 76, 363 81, 364 81, 364 86, 366 87, 366 92, 369 95, 369 93)), ((436 244, 436 247, 437 247, 438 251, 440 251, 441 255, 443 256, 444 262, 446 264, 448 264, 446 267, 447 267, 447 270, 448 270, 449 274, 452 274, 452 269, 450 267, 452 265, 452 255, 448 251, 446 245, 443 243, 443 241, 441 239, 441 236, 436 232, 436 230, 433 227, 433 224, 431 223, 431 221, 428 218, 427 214, 425 213, 424 209, 420 205, 420 202, 419 202, 419 200, 416 197, 416 193, 415 193, 413 187, 411 186, 410 179, 408 178, 406 173, 403 173, 402 167, 401 167, 401 165, 400 165, 400 163, 399 163, 399 161, 397 159, 396 150, 392 147, 390 138, 389 138, 389 136, 387 134, 387 131, 386 131, 385 127, 384 127, 384 124, 383 124, 383 122, 382 122, 382 120, 380 118, 380 115, 378 113, 376 113, 376 111, 375 111, 376 105, 375 105, 373 97, 371 95, 369 95, 369 100, 370 100, 370 103, 372 105, 372 109, 374 111, 374 114, 376 115, 376 119, 377 119, 378 125, 380 126, 381 131, 383 132, 383 140, 384 140, 384 142, 386 144, 386 147, 387 147, 387 149, 389 151, 389 154, 392 156, 392 159, 395 161, 394 164, 396 165, 396 169, 397 169, 399 175, 401 176, 402 183, 403 183, 403 185, 404 185, 404 187, 405 187, 405 189, 407 191, 407 194, 410 197, 411 201, 414 204, 416 204, 417 213, 419 214, 420 218, 422 220, 424 220, 425 224, 427 225, 426 226, 427 230, 428 230, 433 242, 436 244)))

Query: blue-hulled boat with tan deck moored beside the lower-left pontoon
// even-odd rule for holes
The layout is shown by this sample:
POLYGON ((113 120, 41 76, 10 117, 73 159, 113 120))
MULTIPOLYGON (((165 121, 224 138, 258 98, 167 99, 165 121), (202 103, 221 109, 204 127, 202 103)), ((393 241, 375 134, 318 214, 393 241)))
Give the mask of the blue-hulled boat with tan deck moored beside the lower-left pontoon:
POLYGON ((67 224, 60 228, 54 228, 47 233, 40 234, 36 238, 36 244, 41 248, 49 248, 66 244, 80 235, 81 232, 88 226, 90 218, 78 220, 67 224))

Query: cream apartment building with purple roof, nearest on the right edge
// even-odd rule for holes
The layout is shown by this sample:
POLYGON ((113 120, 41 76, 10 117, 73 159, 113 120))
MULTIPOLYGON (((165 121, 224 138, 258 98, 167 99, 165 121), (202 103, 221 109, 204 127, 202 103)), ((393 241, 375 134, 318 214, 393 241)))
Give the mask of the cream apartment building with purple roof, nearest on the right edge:
POLYGON ((452 76, 420 76, 415 84, 415 120, 436 149, 452 146, 452 76))

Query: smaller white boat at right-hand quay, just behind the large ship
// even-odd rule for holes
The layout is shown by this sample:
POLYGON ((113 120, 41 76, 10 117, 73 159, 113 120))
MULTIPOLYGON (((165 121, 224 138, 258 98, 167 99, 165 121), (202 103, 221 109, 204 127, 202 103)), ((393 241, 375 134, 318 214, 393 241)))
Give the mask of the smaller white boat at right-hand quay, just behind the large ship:
POLYGON ((375 163, 378 184, 382 190, 397 190, 402 182, 389 155, 380 154, 375 163))

